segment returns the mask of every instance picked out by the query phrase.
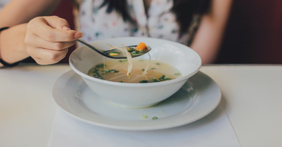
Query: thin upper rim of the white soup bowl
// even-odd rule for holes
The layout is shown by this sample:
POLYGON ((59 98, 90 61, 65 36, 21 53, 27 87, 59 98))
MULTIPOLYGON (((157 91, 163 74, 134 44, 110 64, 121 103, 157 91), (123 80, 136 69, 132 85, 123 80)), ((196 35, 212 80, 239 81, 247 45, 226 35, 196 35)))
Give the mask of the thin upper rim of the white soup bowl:
MULTIPOLYGON (((155 40, 165 40, 165 39, 159 39, 159 38, 136 37, 136 36, 132 36, 132 37, 115 37, 115 38, 118 38, 118 39, 128 39, 128 38, 140 38, 140 39, 142 39, 142 38, 150 38, 150 39, 155 39, 155 40)), ((112 39, 115 39, 115 38, 108 38, 108 39, 96 40, 96 41, 93 41, 93 42, 90 42, 90 43, 96 43, 96 42, 103 41, 103 40, 112 40, 112 39)), ((171 41, 171 40, 165 40, 165 41, 168 41, 168 42, 171 42, 171 43, 177 43, 177 44, 182 45, 182 46, 184 46, 184 47, 188 47, 188 46, 186 46, 186 45, 184 45, 184 44, 181 44, 181 43, 178 43, 178 42, 174 42, 174 41, 171 41)), ((196 56, 198 56, 198 59, 200 59, 200 60, 199 60, 200 63, 199 63, 199 66, 197 66, 197 67, 195 68, 195 70, 193 70, 191 73, 186 74, 186 75, 184 75, 184 76, 182 76, 182 77, 178 77, 178 78, 175 78, 175 79, 172 79, 172 80, 168 80, 168 81, 151 82, 151 83, 126 83, 126 82, 124 83, 124 82, 107 81, 107 80, 102 80, 102 79, 99 79, 99 78, 96 78, 96 77, 92 77, 92 76, 90 76, 90 75, 88 75, 88 74, 85 74, 85 73, 79 71, 77 68, 75 68, 74 65, 72 64, 72 62, 71 62, 71 57, 72 57, 72 55, 75 53, 75 51, 81 49, 81 48, 84 47, 84 46, 85 46, 85 45, 82 45, 82 46, 77 47, 77 48, 70 54, 70 57, 69 57, 69 64, 70 64, 70 67, 71 67, 77 74, 79 74, 80 76, 82 76, 82 77, 84 77, 84 78, 86 78, 86 79, 88 79, 88 80, 97 81, 97 82, 102 83, 102 84, 103 84, 103 83, 104 83, 104 84, 107 84, 107 83, 108 83, 108 84, 111 84, 111 85, 119 85, 119 86, 121 86, 121 85, 123 85, 123 86, 136 86, 136 85, 138 85, 138 86, 140 86, 140 87, 148 87, 148 86, 158 86, 158 85, 173 84, 173 83, 177 83, 177 82, 180 82, 180 81, 188 80, 188 78, 189 78, 189 77, 192 77, 194 74, 196 74, 196 73, 200 70, 200 68, 201 68, 201 66, 202 66, 202 60, 201 60, 201 58, 200 58, 200 55, 199 55, 196 51, 194 51, 193 49, 191 49, 190 47, 188 47, 189 49, 192 50, 192 52, 195 53, 196 56)))

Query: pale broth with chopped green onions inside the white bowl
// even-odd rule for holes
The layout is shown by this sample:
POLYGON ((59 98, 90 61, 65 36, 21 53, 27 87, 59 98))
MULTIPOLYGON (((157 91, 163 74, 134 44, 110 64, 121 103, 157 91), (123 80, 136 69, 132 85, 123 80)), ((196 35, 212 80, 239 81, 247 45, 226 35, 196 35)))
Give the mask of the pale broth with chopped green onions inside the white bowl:
POLYGON ((132 63, 130 78, 127 76, 127 59, 110 60, 95 65, 88 71, 88 75, 103 80, 126 83, 150 83, 182 77, 179 70, 159 61, 132 59, 132 63), (144 73, 145 69, 147 69, 146 73, 144 73))

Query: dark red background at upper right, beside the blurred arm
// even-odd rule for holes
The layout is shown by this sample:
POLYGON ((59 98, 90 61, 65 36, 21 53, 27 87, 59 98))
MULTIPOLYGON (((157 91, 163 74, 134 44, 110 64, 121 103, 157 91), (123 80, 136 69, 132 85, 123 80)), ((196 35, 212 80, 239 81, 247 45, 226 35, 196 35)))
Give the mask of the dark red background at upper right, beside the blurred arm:
POLYGON ((234 0, 217 63, 282 64, 282 1, 234 0))

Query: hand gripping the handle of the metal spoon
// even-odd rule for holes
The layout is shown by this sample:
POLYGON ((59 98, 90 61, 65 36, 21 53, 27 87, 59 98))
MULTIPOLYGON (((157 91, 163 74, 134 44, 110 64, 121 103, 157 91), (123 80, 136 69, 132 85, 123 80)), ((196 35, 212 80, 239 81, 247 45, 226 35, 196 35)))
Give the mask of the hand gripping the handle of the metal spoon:
POLYGON ((28 54, 41 65, 54 64, 63 59, 68 47, 83 36, 70 30, 68 22, 57 16, 36 17, 29 21, 25 44, 28 54))

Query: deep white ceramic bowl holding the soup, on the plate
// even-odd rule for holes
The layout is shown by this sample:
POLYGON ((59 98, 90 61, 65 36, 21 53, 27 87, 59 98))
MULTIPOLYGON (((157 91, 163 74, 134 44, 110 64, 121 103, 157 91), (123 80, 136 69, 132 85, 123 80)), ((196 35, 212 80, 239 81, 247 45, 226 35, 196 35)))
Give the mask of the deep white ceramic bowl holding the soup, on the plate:
MULTIPOLYGON (((148 37, 118 37, 98 40, 90 44, 104 49, 106 43, 130 46, 140 42, 152 47, 149 52, 152 60, 176 67, 181 72, 182 77, 154 83, 120 83, 91 77, 87 75, 87 72, 94 65, 103 62, 104 56, 86 46, 78 47, 72 52, 69 59, 70 67, 82 77, 95 93, 110 103, 122 107, 148 107, 158 104, 177 92, 188 78, 196 74, 201 67, 201 58, 194 50, 173 41, 148 37)), ((149 59, 149 56, 146 54, 136 58, 149 59)), ((105 60, 114 59, 105 58, 105 60)))

